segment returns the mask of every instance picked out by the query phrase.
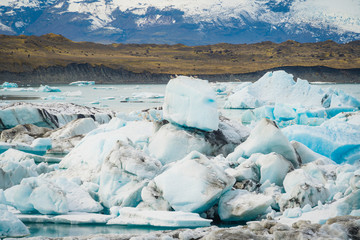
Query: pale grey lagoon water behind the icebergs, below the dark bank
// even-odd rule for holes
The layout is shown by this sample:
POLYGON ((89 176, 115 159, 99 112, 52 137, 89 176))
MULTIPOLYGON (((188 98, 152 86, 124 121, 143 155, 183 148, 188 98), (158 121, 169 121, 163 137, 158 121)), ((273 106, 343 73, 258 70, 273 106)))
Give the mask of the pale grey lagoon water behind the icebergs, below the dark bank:
MULTIPOLYGON (((228 83, 230 85, 236 83, 228 83)), ((346 93, 360 99, 360 84, 316 84, 323 89, 341 89, 346 93)), ((162 106, 163 98, 138 98, 126 101, 126 98, 139 93, 165 94, 165 84, 142 84, 142 85, 92 85, 92 86, 69 86, 58 85, 61 92, 35 92, 35 91, 0 91, 0 100, 7 102, 72 102, 80 105, 110 108, 115 112, 129 113, 162 106)), ((38 86, 32 87, 37 89, 38 86)), ((236 118, 241 110, 223 109, 225 96, 218 96, 218 106, 223 115, 236 118)))

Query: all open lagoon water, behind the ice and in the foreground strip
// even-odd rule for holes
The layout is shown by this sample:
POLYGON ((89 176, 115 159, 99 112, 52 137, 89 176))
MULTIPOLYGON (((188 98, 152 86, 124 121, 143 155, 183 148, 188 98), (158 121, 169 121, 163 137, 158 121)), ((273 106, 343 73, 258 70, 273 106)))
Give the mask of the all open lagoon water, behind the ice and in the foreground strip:
MULTIPOLYGON (((235 84, 235 83, 233 83, 235 84)), ((328 87, 341 89, 346 93, 360 99, 360 84, 317 84, 321 88, 328 87)), ((116 112, 129 113, 152 107, 161 106, 163 98, 141 98, 125 101, 138 93, 164 94, 164 84, 144 84, 144 85, 94 85, 94 86, 69 86, 60 85, 57 87, 61 92, 36 92, 36 91, 0 91, 1 104, 17 101, 25 102, 72 102, 76 104, 110 108, 116 112), (48 98, 45 99, 45 98, 48 98)), ((38 86, 33 86, 37 89, 38 86)), ((240 116, 241 110, 223 109, 225 96, 218 96, 218 106, 220 112, 232 119, 240 116)), ((106 225, 67 225, 67 224, 27 224, 31 232, 31 237, 66 237, 92 234, 141 234, 164 228, 154 227, 128 227, 128 226, 106 226, 106 225)))

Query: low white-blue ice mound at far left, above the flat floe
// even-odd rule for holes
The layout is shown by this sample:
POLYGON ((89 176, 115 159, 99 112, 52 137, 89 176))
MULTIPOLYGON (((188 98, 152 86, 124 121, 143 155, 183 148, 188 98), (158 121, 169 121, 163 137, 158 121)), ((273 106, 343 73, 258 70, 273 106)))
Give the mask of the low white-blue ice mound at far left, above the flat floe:
POLYGON ((77 183, 66 178, 25 178, 4 192, 8 204, 21 213, 65 214, 99 212, 103 208, 77 183))

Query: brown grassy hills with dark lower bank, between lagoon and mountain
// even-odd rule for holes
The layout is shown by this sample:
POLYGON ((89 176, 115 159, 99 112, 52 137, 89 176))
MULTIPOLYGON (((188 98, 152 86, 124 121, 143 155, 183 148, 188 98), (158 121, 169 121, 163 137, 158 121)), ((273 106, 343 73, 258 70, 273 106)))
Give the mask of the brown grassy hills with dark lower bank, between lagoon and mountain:
POLYGON ((165 83, 172 75, 256 80, 284 69, 310 81, 360 82, 360 41, 206 46, 73 42, 61 35, 0 35, 0 81, 20 84, 165 83))

